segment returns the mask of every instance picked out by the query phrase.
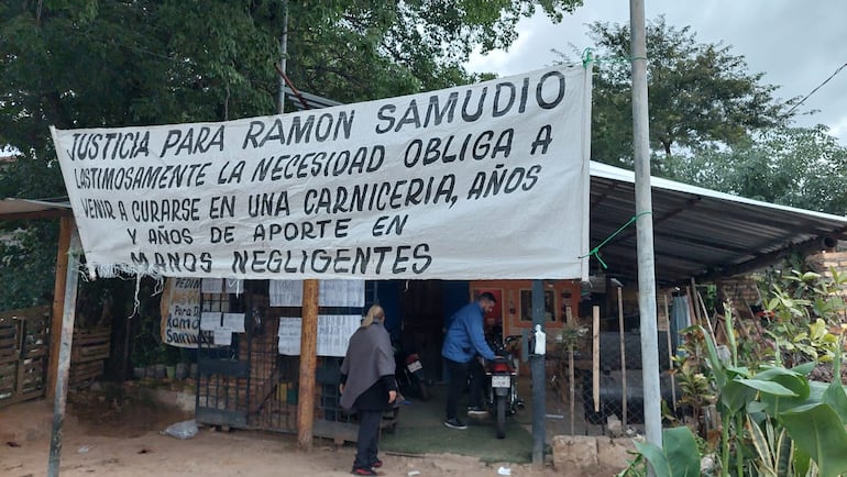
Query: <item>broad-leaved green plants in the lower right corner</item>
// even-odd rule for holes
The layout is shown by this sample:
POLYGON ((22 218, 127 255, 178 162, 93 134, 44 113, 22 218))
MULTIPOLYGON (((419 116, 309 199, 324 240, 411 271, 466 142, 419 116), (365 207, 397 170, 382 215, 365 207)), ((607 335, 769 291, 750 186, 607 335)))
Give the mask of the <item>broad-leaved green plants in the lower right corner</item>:
MULTIPOLYGON (((713 445, 721 476, 847 473, 845 388, 837 378, 831 384, 809 378, 815 365, 825 359, 834 363, 834 375, 840 376, 844 340, 832 333, 831 323, 837 322, 844 311, 839 286, 845 277, 835 270, 832 274, 827 278, 792 271, 774 280, 779 284, 772 284, 767 300, 771 317, 768 332, 778 346, 771 362, 740 352, 730 303, 724 306, 724 345, 701 326, 682 331, 685 342, 675 358, 682 402, 695 407, 695 411, 697 406, 715 403, 721 435, 713 445)), ((630 469, 639 468, 647 459, 657 475, 669 475, 668 466, 674 459, 691 458, 672 458, 650 446, 638 450, 640 461, 636 459, 630 469)))

